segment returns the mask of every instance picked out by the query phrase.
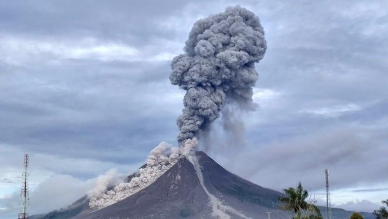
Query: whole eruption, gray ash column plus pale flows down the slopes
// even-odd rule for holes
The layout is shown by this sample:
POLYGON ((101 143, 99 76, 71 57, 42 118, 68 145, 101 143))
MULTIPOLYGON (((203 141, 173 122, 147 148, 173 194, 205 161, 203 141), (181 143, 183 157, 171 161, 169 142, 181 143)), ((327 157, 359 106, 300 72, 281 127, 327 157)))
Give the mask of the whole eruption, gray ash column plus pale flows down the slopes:
MULTIPOLYGON (((196 167, 198 179, 202 179, 194 154, 200 131, 206 134, 212 121, 223 111, 224 129, 232 137, 240 139, 243 130, 230 110, 254 109, 252 86, 258 79, 255 63, 266 51, 264 30, 259 18, 240 6, 228 7, 222 13, 211 15, 194 23, 186 41, 185 54, 172 61, 170 81, 187 91, 183 114, 177 124, 179 148, 166 142, 155 147, 146 161, 129 182, 111 182, 113 177, 101 177, 97 187, 90 192, 89 206, 101 209, 117 203, 155 182, 163 173, 187 157, 196 167), (224 108, 224 105, 232 106, 224 108), (112 185, 113 184, 113 185, 112 185), (114 186, 112 189, 111 186, 114 186)), ((204 188, 202 183, 201 185, 204 188)), ((204 188, 205 189, 205 188, 204 188)), ((221 206, 211 194, 214 212, 221 206), (217 207, 218 206, 218 207, 217 207)), ((223 207, 222 211, 226 211, 223 207)), ((228 211, 231 211, 230 209, 228 211)))

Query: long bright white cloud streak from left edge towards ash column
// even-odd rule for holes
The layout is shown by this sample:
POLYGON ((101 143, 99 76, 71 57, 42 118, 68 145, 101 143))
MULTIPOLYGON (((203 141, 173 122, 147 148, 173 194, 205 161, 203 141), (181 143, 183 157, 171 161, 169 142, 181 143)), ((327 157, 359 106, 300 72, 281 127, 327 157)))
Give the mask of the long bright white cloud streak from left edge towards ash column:
MULTIPOLYGON (((162 40, 159 45, 136 48, 132 45, 102 41, 96 38, 35 39, 18 36, 0 36, 0 59, 7 64, 23 66, 48 62, 60 65, 63 59, 94 59, 99 61, 170 61, 177 54, 169 52, 172 41, 162 40), (164 51, 159 48, 165 48, 164 51)), ((175 51, 179 52, 179 51, 175 51)))

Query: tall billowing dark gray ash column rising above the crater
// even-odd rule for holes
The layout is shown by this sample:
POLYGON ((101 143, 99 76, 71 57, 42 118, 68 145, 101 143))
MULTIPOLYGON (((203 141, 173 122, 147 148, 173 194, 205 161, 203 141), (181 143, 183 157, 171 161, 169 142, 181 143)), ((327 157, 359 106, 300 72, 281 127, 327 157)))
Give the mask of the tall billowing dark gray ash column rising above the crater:
POLYGON ((180 145, 218 118, 225 103, 254 108, 255 62, 266 49, 259 17, 246 8, 228 7, 194 23, 185 54, 171 63, 171 83, 187 91, 177 121, 180 145))

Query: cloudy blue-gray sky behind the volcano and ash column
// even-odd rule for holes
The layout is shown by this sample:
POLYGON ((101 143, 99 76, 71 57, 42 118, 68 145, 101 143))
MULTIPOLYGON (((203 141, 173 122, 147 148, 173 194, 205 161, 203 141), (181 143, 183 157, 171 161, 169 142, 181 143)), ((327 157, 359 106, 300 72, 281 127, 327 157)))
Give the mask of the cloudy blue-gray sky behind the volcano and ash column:
POLYGON ((201 147, 227 170, 324 205, 373 212, 388 198, 388 2, 380 0, 0 1, 0 218, 15 218, 29 154, 29 213, 67 207, 111 169, 178 146, 185 92, 172 58, 194 22, 227 6, 259 16, 256 111, 201 147), (58 199, 61 197, 61 199, 58 199))

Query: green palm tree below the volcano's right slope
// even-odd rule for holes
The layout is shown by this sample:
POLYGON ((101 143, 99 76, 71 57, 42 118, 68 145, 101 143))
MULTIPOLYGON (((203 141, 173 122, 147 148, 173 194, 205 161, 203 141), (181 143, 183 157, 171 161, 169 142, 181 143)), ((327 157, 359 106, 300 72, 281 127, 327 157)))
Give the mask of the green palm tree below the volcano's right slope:
POLYGON ((321 212, 318 207, 311 204, 311 202, 315 203, 316 201, 310 201, 310 203, 305 201, 308 198, 308 192, 303 190, 300 182, 296 190, 290 187, 288 189, 284 189, 283 191, 286 194, 286 197, 280 197, 279 201, 283 203, 283 209, 285 211, 293 211, 295 215, 294 219, 301 219, 301 213, 304 213, 305 211, 316 212, 318 216, 321 216, 321 212))

